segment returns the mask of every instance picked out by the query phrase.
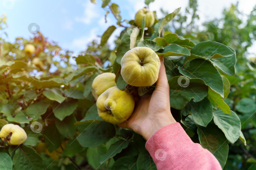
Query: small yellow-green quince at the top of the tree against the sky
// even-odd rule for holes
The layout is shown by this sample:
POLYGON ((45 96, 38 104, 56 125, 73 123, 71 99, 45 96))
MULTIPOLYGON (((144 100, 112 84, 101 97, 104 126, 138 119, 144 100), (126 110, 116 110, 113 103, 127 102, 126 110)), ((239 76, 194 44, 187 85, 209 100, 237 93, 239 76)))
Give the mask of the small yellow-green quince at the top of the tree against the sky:
POLYGON ((139 27, 141 27, 143 17, 145 17, 145 27, 151 27, 155 22, 155 16, 154 13, 151 11, 148 11, 147 8, 140 9, 135 14, 135 24, 139 27))

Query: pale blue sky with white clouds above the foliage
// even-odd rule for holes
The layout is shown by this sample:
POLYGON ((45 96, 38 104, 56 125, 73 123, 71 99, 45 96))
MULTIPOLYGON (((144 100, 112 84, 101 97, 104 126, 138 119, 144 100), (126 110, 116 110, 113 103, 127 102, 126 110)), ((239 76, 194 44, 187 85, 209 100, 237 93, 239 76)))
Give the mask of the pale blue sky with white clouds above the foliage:
MULTIPOLYGON (((241 1, 239 9, 248 14, 256 2, 252 0, 241 1)), ((101 0, 93 4, 90 0, 0 0, 0 15, 5 13, 8 17, 8 28, 6 32, 9 42, 14 42, 16 37, 33 37, 28 31, 28 25, 36 23, 40 26, 40 31, 48 40, 55 41, 64 50, 69 49, 78 54, 85 50, 86 46, 93 39, 100 39, 103 32, 110 26, 115 25, 115 19, 112 14, 108 14, 107 23, 105 23, 105 12, 101 8, 101 0)), ((112 0, 117 3, 121 10, 123 19, 131 20, 134 18, 138 9, 145 6, 144 0, 112 0)), ((220 17, 222 10, 229 7, 231 3, 237 0, 198 0, 198 14, 200 25, 205 20, 220 17)), ((182 7, 184 12, 188 0, 155 0, 149 5, 150 10, 156 10, 158 17, 162 17, 160 8, 169 12, 182 7)), ((111 44, 121 31, 117 29, 110 37, 108 43, 111 44)), ((250 48, 250 52, 256 53, 256 43, 250 48)))

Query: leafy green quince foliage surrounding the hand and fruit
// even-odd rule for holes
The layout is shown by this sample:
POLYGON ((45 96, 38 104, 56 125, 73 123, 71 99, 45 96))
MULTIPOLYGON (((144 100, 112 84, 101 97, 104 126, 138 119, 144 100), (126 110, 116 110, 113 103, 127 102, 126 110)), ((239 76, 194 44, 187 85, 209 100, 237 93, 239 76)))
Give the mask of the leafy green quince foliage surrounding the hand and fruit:
MULTIPOLYGON (((101 43, 93 41, 76 57, 41 32, 15 43, 0 37, 0 127, 18 124, 28 135, 20 146, 0 142, 1 169, 156 169, 140 135, 103 122, 97 114, 90 91, 102 72, 114 72, 117 86, 136 96, 154 89, 123 81, 120 60, 130 49, 134 21, 122 19, 119 6, 110 1, 102 8, 106 19, 113 14, 117 24, 106 30, 101 43), (117 27, 124 29, 113 50, 107 40, 117 27), (35 54, 25 53, 26 44, 36 47, 35 54), (71 57, 76 65, 70 64, 71 57), (34 58, 43 65, 33 63, 34 58)), ((256 6, 243 21, 237 4, 231 5, 221 19, 204 23, 203 31, 195 25, 200 17, 196 0, 189 1, 184 16, 179 10, 162 10, 166 17, 156 18, 147 30, 142 26, 135 45, 165 56, 171 111, 191 139, 210 150, 224 169, 253 168, 256 59, 247 57, 247 48, 256 38, 256 6)), ((1 16, 1 32, 6 21, 1 16)))

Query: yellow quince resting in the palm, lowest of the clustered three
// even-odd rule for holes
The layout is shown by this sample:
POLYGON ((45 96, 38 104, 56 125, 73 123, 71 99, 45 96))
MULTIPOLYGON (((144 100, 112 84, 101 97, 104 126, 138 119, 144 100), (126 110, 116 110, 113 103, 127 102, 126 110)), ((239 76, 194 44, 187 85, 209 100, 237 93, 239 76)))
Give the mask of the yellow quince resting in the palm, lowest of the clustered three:
POLYGON ((119 90, 117 86, 102 93, 96 103, 99 116, 113 124, 125 122, 131 116, 134 104, 129 90, 119 90))

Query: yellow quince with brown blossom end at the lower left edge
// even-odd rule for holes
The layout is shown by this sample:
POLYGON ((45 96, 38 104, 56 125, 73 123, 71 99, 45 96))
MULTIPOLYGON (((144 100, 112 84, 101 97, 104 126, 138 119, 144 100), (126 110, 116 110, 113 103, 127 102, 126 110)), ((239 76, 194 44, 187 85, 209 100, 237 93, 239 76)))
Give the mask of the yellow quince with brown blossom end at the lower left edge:
POLYGON ((10 140, 7 140, 9 145, 20 145, 27 139, 25 130, 14 124, 6 124, 2 127, 0 137, 4 141, 6 136, 10 137, 10 140), (12 134, 9 136, 10 133, 12 134))

